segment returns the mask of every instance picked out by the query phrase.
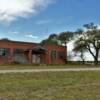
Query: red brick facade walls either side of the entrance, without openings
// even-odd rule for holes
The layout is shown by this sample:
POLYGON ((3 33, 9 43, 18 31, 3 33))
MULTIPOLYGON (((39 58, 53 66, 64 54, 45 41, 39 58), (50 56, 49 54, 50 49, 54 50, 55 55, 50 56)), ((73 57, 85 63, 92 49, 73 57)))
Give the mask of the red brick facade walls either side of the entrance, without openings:
MULTIPOLYGON (((11 63, 14 61, 15 49, 22 49, 25 51, 25 56, 28 63, 32 63, 32 49, 37 47, 39 44, 35 43, 24 43, 24 42, 11 42, 11 41, 0 41, 0 49, 8 49, 8 54, 0 56, 0 63, 11 63)), ((67 58, 67 50, 64 46, 56 45, 44 45, 46 52, 41 55, 41 63, 44 64, 64 64, 65 58, 67 58)))

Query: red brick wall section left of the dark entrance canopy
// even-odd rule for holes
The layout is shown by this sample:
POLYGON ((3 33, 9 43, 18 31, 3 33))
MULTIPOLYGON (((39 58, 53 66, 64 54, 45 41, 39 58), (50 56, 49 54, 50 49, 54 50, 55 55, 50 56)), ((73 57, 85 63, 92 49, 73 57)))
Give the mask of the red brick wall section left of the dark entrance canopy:
MULTIPOLYGON (((35 43, 21 43, 21 42, 10 42, 10 41, 0 41, 0 49, 8 49, 8 54, 5 56, 0 56, 0 63, 11 63, 14 61, 14 51, 15 49, 22 49, 23 51, 36 47, 35 43)), ((26 55, 28 62, 32 62, 32 51, 29 50, 26 55)))

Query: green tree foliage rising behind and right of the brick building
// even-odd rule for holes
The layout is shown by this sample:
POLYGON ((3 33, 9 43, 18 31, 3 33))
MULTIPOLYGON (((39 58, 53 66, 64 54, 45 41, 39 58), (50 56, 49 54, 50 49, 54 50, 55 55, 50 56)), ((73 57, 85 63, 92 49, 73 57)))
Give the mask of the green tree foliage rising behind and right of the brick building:
POLYGON ((72 39, 77 38, 74 43, 73 51, 80 53, 83 59, 84 53, 89 52, 93 58, 94 63, 98 64, 100 53, 100 29, 94 23, 84 25, 84 29, 78 29, 75 32, 61 32, 59 34, 51 34, 48 39, 45 39, 41 44, 56 44, 65 45, 72 39))

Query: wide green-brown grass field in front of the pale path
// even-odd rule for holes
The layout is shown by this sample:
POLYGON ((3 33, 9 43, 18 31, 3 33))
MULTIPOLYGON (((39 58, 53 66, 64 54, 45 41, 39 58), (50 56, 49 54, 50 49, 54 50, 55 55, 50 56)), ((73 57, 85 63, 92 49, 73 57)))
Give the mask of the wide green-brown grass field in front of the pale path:
POLYGON ((100 72, 0 74, 0 100, 100 100, 100 72))

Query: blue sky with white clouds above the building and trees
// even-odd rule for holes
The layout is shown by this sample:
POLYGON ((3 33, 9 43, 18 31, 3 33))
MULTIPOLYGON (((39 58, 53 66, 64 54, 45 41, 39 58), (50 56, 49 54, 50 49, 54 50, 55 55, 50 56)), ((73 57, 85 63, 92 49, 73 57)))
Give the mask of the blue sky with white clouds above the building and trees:
POLYGON ((40 42, 51 33, 100 25, 100 0, 0 0, 0 38, 40 42))

